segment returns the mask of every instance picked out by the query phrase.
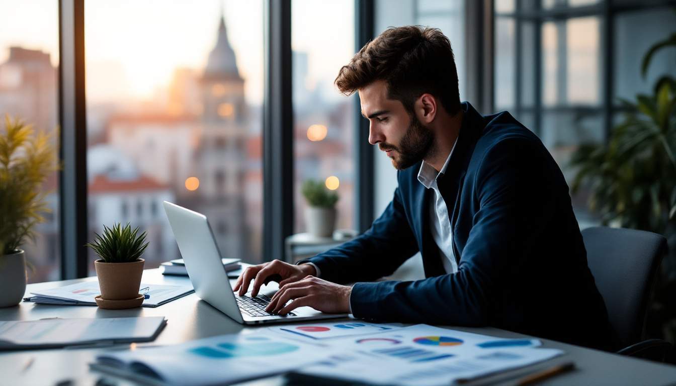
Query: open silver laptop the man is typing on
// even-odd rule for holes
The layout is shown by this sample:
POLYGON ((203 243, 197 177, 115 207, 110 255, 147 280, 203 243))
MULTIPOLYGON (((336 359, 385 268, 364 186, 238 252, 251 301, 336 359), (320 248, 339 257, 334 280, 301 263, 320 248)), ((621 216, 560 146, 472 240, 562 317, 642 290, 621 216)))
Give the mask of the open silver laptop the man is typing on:
POLYGON ((239 296, 228 281, 216 238, 206 216, 164 201, 178 250, 188 271, 195 293, 227 316, 242 324, 296 322, 308 319, 341 318, 347 314, 326 314, 310 307, 299 307, 287 315, 265 311, 273 293, 239 296))

